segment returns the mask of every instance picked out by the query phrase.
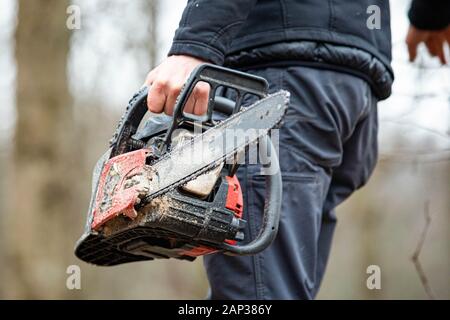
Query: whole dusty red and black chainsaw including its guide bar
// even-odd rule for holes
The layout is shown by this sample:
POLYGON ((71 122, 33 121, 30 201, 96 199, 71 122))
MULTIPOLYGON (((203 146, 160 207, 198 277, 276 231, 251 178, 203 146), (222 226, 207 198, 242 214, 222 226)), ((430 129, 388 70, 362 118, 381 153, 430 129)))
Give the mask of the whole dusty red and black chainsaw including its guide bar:
POLYGON ((151 114, 143 121, 147 93, 144 87, 132 97, 110 148, 94 168, 76 256, 112 266, 167 258, 192 261, 215 252, 250 255, 267 248, 278 230, 282 192, 269 133, 280 125, 289 93, 269 95, 264 78, 211 64, 192 72, 173 116, 151 114), (199 81, 210 86, 204 116, 184 112, 199 81), (221 95, 225 90, 233 92, 233 100, 221 95), (247 95, 257 101, 244 106, 247 95), (274 173, 265 176, 261 229, 244 243, 246 220, 236 171, 251 145, 268 151, 263 154, 270 154, 274 173))

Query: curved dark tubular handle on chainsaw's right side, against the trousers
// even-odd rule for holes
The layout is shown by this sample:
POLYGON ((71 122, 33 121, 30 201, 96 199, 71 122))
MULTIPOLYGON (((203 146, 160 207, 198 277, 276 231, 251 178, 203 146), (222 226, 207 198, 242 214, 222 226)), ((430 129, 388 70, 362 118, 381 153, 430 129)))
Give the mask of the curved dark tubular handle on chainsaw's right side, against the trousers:
MULTIPOLYGON (((272 144, 270 137, 261 139, 260 147, 267 150, 270 154, 270 165, 274 170, 274 174, 266 174, 266 197, 264 203, 264 215, 261 229, 256 238, 248 244, 244 245, 229 245, 224 243, 222 249, 227 255, 243 256, 252 255, 266 249, 275 239, 278 232, 278 225, 281 216, 281 201, 283 184, 281 180, 280 164, 276 155, 275 147, 272 144)), ((268 163, 267 152, 262 152, 263 163, 268 163)))

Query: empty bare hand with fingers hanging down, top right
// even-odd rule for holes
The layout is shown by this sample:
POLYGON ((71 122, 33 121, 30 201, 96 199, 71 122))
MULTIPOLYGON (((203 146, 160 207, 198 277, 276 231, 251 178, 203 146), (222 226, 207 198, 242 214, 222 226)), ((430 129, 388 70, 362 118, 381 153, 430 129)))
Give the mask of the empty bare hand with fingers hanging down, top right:
POLYGON ((416 59, 417 46, 421 42, 425 43, 431 56, 438 57, 442 64, 447 63, 444 47, 446 43, 450 43, 450 26, 442 30, 420 30, 411 25, 406 36, 411 62, 416 59))

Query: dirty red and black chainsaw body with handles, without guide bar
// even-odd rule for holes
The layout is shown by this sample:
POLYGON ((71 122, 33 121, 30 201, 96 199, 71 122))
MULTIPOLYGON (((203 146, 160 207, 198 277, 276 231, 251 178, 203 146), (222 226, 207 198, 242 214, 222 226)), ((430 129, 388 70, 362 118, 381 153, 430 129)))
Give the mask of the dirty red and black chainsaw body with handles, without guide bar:
MULTIPOLYGON (((187 81, 173 117, 153 116, 141 127, 147 110, 147 88, 135 94, 109 150, 94 169, 92 198, 85 232, 76 245, 77 257, 92 264, 112 266, 160 258, 194 260, 217 251, 253 254, 266 248, 278 229, 279 173, 267 177, 264 223, 257 238, 245 245, 239 243, 244 238, 246 221, 242 191, 235 175, 237 163, 208 163, 207 170, 199 171, 198 175, 192 173, 192 178, 177 181, 175 187, 153 195, 151 191, 152 182, 159 179, 153 167, 177 147, 174 138, 177 129, 188 132, 189 140, 193 139, 190 133, 195 131, 195 126, 198 129, 199 123, 201 132, 220 127, 218 123, 227 120, 215 120, 216 116, 239 117, 244 96, 251 94, 265 99, 267 88, 263 78, 204 64, 187 81), (199 81, 207 82, 211 88, 208 111, 201 120, 183 112, 187 98, 199 81), (234 90, 235 101, 219 96, 223 88, 234 90)), ((287 102, 282 107, 285 109, 287 102)), ((273 148, 268 137, 261 141, 266 148, 273 148)), ((183 142, 178 143, 185 147, 183 142)), ((276 156, 271 161, 272 166, 278 166, 276 156)))

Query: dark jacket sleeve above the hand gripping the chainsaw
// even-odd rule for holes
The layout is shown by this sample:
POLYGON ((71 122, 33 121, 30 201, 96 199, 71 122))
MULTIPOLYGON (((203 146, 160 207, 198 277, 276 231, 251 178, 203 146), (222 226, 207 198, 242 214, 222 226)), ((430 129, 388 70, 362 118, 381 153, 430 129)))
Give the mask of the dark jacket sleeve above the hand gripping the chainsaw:
POLYGON ((257 0, 189 0, 168 55, 185 54, 222 65, 257 0))

